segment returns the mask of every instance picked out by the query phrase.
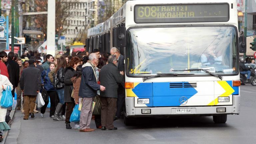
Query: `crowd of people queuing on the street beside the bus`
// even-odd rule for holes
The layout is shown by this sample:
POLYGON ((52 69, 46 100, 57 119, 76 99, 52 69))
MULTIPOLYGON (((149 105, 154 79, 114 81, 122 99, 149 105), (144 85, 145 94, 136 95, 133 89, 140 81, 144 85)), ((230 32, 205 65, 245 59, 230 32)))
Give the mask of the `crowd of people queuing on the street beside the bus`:
MULTIPOLYGON (((92 117, 101 130, 117 129, 113 121, 120 118, 125 99, 124 56, 117 48, 110 53, 94 49, 90 54, 48 54, 44 61, 30 55, 29 60, 22 61, 17 54, 2 51, 0 58, 0 98, 7 86, 11 86, 13 97, 16 90, 16 110, 24 113, 24 120, 33 119, 39 112, 36 98, 45 90, 50 99, 49 116, 54 121, 65 121, 66 129, 72 129, 70 116, 75 105, 80 106, 80 121, 75 122, 80 132, 95 131, 90 127, 92 117), (93 103, 99 108, 93 110, 93 103)), ((41 117, 45 117, 48 102, 40 108, 41 117)), ((0 141, 13 122, 10 111, 11 107, 0 107, 0 141)))

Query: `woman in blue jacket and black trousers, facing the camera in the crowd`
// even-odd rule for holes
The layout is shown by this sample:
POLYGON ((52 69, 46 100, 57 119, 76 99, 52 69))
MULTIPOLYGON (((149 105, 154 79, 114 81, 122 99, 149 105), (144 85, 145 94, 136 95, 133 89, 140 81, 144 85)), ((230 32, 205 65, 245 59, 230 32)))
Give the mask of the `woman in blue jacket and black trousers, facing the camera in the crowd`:
MULTIPOLYGON (((55 64, 54 63, 50 63, 50 67, 47 70, 44 70, 41 73, 41 80, 42 80, 42 84, 44 85, 44 89, 47 91, 47 95, 49 95, 50 97, 50 102, 51 102, 51 107, 50 107, 50 117, 53 118, 54 117, 54 112, 56 109, 56 101, 58 98, 58 94, 56 92, 56 89, 54 88, 54 86, 52 85, 52 82, 50 81, 49 77, 48 77, 48 73, 53 70, 55 68, 55 64)), ((44 117, 44 113, 46 110, 46 107, 48 105, 49 102, 45 103, 45 105, 43 107, 41 107, 41 117, 44 117)))

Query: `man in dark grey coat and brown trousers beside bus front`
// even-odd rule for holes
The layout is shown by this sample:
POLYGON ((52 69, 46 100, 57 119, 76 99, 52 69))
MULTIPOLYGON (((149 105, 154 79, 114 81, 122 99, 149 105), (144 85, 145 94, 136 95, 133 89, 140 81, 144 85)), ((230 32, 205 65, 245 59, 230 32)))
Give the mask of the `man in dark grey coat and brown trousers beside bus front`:
POLYGON ((118 84, 123 84, 123 72, 120 72, 115 55, 108 57, 108 64, 103 66, 100 71, 100 83, 106 87, 105 91, 100 92, 101 101, 101 125, 102 130, 116 130, 113 121, 116 114, 117 89, 118 84))

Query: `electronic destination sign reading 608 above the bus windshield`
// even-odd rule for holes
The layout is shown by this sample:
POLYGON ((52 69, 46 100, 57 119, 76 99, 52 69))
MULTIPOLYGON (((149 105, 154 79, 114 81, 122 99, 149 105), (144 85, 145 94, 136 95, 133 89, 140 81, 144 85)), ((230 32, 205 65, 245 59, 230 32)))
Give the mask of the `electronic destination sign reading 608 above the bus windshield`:
POLYGON ((136 23, 227 22, 229 5, 135 5, 136 23))

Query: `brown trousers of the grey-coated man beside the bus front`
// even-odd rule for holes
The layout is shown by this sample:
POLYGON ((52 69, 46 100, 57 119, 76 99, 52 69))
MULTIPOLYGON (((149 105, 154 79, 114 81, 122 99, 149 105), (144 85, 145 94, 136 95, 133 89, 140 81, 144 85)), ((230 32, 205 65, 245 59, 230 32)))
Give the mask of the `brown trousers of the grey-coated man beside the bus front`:
POLYGON ((116 114, 117 98, 100 97, 101 101, 101 125, 113 129, 114 117, 116 114))

